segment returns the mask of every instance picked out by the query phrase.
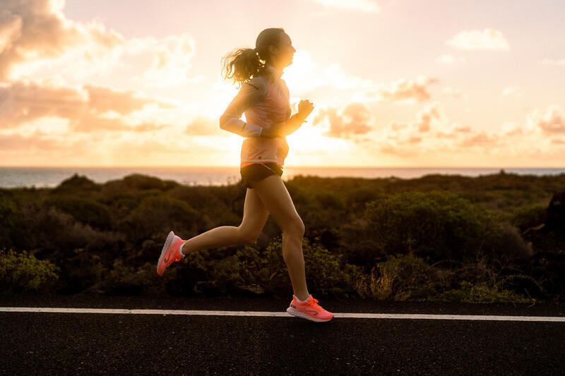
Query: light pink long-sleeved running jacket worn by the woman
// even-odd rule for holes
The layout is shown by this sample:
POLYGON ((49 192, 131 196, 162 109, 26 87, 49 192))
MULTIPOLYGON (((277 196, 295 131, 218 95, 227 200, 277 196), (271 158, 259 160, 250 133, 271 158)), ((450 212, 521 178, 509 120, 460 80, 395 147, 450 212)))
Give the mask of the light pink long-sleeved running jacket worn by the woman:
POLYGON ((300 121, 290 116, 290 94, 283 71, 269 64, 265 76, 258 75, 243 83, 241 89, 220 116, 220 128, 242 135, 240 168, 254 163, 275 162, 283 168, 288 154, 286 137, 261 137, 263 129, 275 123, 300 121), (246 121, 241 116, 245 112, 246 121))

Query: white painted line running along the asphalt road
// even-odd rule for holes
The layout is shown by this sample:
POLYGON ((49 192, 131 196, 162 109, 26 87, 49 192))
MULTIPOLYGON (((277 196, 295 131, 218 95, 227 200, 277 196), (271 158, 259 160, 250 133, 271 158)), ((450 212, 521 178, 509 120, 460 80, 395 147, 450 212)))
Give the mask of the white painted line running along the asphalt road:
MULTIPOLYGON (((261 316, 293 317, 286 312, 261 312, 237 310, 128 310, 107 308, 47 308, 47 307, 0 307, 0 312, 43 313, 121 313, 130 315, 212 315, 212 316, 261 316)), ((355 319, 410 319, 410 320, 498 320, 498 321, 554 321, 565 322, 557 316, 499 316, 499 315, 414 315, 410 313, 334 313, 334 318, 355 319)))

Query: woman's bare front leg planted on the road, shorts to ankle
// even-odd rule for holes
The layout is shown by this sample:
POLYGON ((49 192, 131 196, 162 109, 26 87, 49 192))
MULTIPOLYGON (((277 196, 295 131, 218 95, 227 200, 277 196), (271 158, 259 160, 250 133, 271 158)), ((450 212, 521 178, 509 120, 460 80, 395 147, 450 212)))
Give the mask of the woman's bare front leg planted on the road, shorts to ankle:
POLYGON ((253 183, 263 205, 283 230, 283 258, 288 268, 292 289, 300 300, 308 298, 302 238, 304 223, 296 211, 287 187, 279 175, 270 175, 253 183))

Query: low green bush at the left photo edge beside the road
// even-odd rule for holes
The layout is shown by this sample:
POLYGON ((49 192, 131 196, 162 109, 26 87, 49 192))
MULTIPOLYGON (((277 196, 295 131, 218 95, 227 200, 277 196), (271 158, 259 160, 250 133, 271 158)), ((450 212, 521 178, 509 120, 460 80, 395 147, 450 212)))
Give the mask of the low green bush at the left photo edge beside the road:
POLYGON ((59 278, 57 272, 59 267, 48 260, 37 260, 25 250, 21 253, 12 249, 6 251, 6 248, 0 250, 0 286, 3 292, 48 289, 59 278))

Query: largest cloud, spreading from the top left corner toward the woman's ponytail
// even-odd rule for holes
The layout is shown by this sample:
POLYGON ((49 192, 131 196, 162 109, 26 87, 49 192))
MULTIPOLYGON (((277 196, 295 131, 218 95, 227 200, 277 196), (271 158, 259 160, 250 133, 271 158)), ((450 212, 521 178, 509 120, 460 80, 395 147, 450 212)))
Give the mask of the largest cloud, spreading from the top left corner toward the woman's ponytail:
MULTIPOLYGON (((162 38, 124 38, 91 21, 69 20, 60 0, 10 0, 0 11, 0 80, 59 76, 82 83, 114 73, 147 87, 199 83, 189 77, 196 53, 187 33, 162 38)), ((124 78, 125 80, 125 78, 124 78)))

